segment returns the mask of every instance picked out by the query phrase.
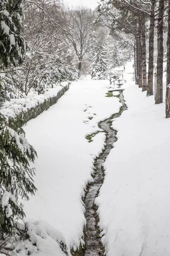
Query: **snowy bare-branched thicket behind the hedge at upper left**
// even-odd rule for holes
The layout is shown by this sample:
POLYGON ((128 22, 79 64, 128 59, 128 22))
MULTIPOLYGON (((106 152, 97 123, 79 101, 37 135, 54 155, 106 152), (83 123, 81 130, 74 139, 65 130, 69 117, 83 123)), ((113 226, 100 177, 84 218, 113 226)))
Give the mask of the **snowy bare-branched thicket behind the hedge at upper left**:
MULTIPOLYGON (((17 4, 20 6, 21 13, 23 5, 19 4, 19 1, 17 4)), ((12 13, 14 15, 14 12, 12 13)), ((68 41, 65 44, 65 40, 59 32, 59 29, 64 30, 62 14, 63 7, 58 0, 55 2, 26 1, 23 9, 25 19, 24 21, 20 20, 20 26, 23 22, 23 28, 20 28, 20 36, 18 36, 23 44, 26 40, 23 47, 26 55, 23 55, 24 61, 21 65, 19 59, 22 57, 20 52, 23 50, 18 50, 17 54, 20 54, 20 58, 15 63, 16 68, 14 65, 7 67, 5 64, 1 67, 3 81, 0 99, 5 99, 5 95, 6 100, 22 98, 27 96, 31 90, 37 91, 39 94, 44 93, 45 90, 61 81, 78 79, 78 72, 72 62, 69 49, 71 44, 68 41), (17 67, 17 65, 20 66, 17 67)), ((18 47, 18 44, 16 46, 18 47)), ((16 49, 18 49, 17 47, 16 49)), ((11 54, 11 51, 9 53, 11 54)), ((16 54, 14 56, 17 58, 16 54)), ((10 63, 14 64, 14 61, 10 63)))

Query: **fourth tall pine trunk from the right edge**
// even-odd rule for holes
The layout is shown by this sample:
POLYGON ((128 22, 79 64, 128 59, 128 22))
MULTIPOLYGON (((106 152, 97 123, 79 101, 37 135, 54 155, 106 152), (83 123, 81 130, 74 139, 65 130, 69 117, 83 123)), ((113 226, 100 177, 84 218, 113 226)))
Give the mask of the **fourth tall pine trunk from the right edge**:
POLYGON ((146 38, 145 38, 145 16, 142 15, 142 74, 143 87, 142 92, 147 90, 147 71, 146 71, 146 38))

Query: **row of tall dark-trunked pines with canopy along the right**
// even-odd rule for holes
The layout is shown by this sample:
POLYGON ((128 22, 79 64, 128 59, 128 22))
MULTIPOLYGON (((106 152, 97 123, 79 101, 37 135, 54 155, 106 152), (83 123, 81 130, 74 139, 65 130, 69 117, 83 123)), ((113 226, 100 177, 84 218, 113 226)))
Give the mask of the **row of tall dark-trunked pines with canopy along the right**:
MULTIPOLYGON (((110 30, 114 34, 124 33, 122 41, 126 41, 126 35, 133 35, 135 39, 135 77, 136 83, 147 90, 147 96, 153 95, 153 57, 154 57, 154 26, 157 28, 157 74, 156 74, 156 100, 155 104, 163 101, 163 29, 164 16, 168 16, 169 1, 164 0, 101 0, 98 6, 99 18, 108 22, 110 30), (126 16, 126 19, 125 19, 126 16), (150 20, 149 40, 146 44, 146 22, 150 20), (146 49, 148 48, 148 75, 146 70, 146 49)), ((169 16, 168 16, 169 17, 169 16)), ((168 21, 169 22, 169 21, 168 21)), ((169 24, 169 23, 168 23, 169 24)), ((167 40, 167 65, 169 65, 169 38, 167 40)), ((128 44, 128 42, 127 42, 128 44)), ((168 66, 169 67, 169 66, 168 66)), ((166 116, 169 117, 169 84, 167 68, 167 96, 166 116)))

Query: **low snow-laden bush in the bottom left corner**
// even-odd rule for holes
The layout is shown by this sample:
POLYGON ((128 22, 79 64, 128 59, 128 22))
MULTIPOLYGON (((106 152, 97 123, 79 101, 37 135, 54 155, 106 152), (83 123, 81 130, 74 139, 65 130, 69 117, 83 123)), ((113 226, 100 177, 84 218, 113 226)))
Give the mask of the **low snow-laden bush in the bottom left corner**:
POLYGON ((45 221, 17 222, 16 236, 0 241, 1 252, 10 256, 66 256, 68 249, 59 230, 45 221), (3 243, 3 245, 2 245, 3 243))

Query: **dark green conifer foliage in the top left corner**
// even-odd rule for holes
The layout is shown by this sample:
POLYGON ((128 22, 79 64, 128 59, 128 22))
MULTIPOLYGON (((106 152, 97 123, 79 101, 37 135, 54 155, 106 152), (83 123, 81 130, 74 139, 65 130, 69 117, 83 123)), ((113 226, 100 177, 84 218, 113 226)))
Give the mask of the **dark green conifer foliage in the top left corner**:
POLYGON ((21 64, 25 41, 21 37, 23 0, 0 0, 0 59, 8 67, 21 64))

